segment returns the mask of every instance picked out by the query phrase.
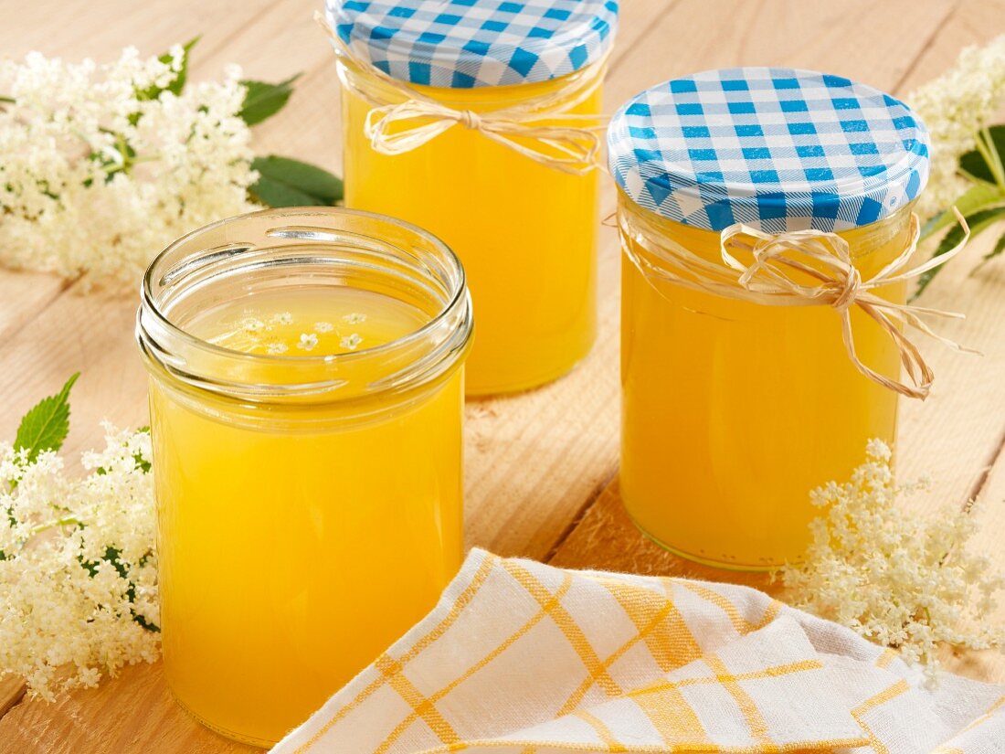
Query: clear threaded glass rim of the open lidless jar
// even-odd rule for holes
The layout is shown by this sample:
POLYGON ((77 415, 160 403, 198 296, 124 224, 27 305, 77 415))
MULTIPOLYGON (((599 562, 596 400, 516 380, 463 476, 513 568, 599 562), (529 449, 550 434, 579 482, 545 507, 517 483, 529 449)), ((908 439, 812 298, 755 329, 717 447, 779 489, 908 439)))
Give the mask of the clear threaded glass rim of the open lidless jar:
MULTIPOLYGON (((241 237, 240 232, 237 232, 237 237, 241 237)), ((304 256, 303 251, 298 253, 299 260, 305 262, 308 257, 304 256)), ((265 259, 250 260, 247 270, 243 271, 251 272, 267 263, 265 259)), ((371 271, 376 269, 373 259, 369 264, 371 271)), ((311 379, 283 383, 281 386, 260 382, 252 385, 251 382, 242 383, 233 379, 223 381, 219 379, 220 375, 216 374, 200 374, 198 367, 186 371, 183 365, 192 367, 199 362, 205 363, 208 359, 224 367, 220 371, 230 373, 233 377, 235 372, 244 371, 240 365, 245 365, 251 374, 254 374, 256 369, 267 370, 272 366, 303 373, 306 376, 351 371, 354 364, 373 364, 381 360, 395 362, 393 358, 395 356, 399 357, 397 358, 399 363, 408 362, 410 368, 405 370, 407 374, 403 375, 399 370, 367 385, 366 392, 373 394, 384 389, 412 388, 448 370, 466 354, 473 328, 470 296, 463 265, 443 241, 411 223, 386 215, 343 207, 263 209, 204 225, 173 241, 151 261, 143 276, 140 293, 136 337, 148 361, 167 369, 190 386, 218 394, 231 394, 232 397, 253 399, 253 396, 258 398, 317 396, 341 388, 347 381, 341 378, 322 381, 311 379), (369 223, 393 231, 399 236, 399 241, 405 239, 407 247, 391 240, 390 233, 387 237, 382 237, 368 234, 363 228, 354 228, 354 222, 369 223), (368 243, 363 244, 361 240, 359 246, 352 247, 354 250, 359 252, 369 249, 371 257, 385 254, 389 263, 396 261, 399 265, 407 264, 407 257, 411 253, 415 263, 409 271, 413 276, 425 275, 428 278, 426 282, 430 284, 428 287, 430 290, 437 288, 440 290, 440 301, 436 302, 438 309, 435 313, 430 313, 429 320, 421 327, 400 338, 378 346, 340 354, 255 354, 234 351, 210 343, 186 330, 184 324, 172 319, 170 310, 177 304, 171 298, 172 291, 176 287, 181 287, 181 291, 184 291, 186 285, 211 286, 213 275, 209 277, 200 275, 205 275, 207 270, 214 266, 222 267, 234 260, 236 260, 235 270, 227 272, 220 269, 215 274, 233 275, 235 271, 241 272, 241 257, 249 251, 261 254, 285 248, 278 244, 260 245, 248 240, 235 242, 222 237, 227 236, 228 231, 240 231, 242 227, 246 228, 252 224, 263 227, 244 231, 248 236, 257 232, 266 239, 298 241, 301 245, 313 247, 324 247, 325 244, 334 247, 341 242, 350 248, 352 246, 347 238, 356 236, 366 239, 368 243), (267 229, 264 229, 265 227, 267 229), (214 235, 221 236, 216 240, 224 242, 214 243, 214 235), (392 251, 401 252, 403 256, 395 257, 392 251), (426 347, 423 347, 423 344, 426 347), (401 358, 405 353, 414 358, 401 358), (199 358, 186 358, 186 355, 193 354, 198 354, 199 358)))

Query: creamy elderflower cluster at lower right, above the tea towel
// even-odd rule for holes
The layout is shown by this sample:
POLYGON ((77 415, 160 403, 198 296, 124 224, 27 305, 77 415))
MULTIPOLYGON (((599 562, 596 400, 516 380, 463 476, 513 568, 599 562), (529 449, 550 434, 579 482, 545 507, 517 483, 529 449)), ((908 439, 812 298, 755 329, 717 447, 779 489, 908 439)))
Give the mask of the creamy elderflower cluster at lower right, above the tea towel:
POLYGON ((897 510, 898 494, 924 487, 897 487, 889 447, 871 440, 850 482, 811 493, 826 512, 811 525, 806 562, 782 576, 797 607, 898 648, 934 680, 940 644, 1002 645, 988 618, 1005 580, 988 573, 987 558, 967 552, 973 516, 926 521, 897 510))

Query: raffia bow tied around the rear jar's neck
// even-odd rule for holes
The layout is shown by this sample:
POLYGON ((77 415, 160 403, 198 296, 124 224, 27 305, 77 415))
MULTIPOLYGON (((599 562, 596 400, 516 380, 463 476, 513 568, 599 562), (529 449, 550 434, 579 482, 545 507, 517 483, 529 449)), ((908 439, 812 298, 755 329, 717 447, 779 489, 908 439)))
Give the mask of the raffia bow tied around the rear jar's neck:
POLYGON ((320 12, 315 12, 315 20, 331 38, 337 55, 365 69, 384 86, 404 98, 404 102, 387 104, 340 69, 343 85, 373 106, 367 114, 364 135, 375 152, 382 155, 411 152, 448 129, 460 126, 565 173, 582 175, 601 167, 603 141, 600 132, 606 128, 606 119, 568 111, 587 100, 603 83, 606 56, 568 76, 566 84, 555 91, 529 98, 511 108, 475 113, 447 107, 361 62, 320 12))

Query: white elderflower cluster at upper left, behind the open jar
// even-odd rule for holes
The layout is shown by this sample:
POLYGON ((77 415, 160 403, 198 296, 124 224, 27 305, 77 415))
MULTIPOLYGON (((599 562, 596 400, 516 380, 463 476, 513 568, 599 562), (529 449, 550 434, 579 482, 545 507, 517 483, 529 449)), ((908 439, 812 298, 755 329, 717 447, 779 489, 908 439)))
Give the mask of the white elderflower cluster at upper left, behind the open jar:
POLYGON ((239 69, 175 95, 169 57, 0 61, 0 263, 135 285, 173 239, 255 208, 239 69))

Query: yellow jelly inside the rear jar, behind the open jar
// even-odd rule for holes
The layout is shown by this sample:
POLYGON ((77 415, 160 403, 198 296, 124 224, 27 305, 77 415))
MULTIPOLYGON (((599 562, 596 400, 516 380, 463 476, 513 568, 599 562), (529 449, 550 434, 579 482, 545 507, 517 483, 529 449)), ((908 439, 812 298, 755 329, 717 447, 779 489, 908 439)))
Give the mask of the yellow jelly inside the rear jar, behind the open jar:
MULTIPOLYGON (((565 82, 412 85, 449 107, 485 112, 565 82)), ((363 133, 372 108, 343 90, 346 206, 414 223, 460 256, 478 320, 465 366, 468 394, 523 390, 569 371, 596 330, 597 171, 563 173, 461 126, 410 152, 383 155, 363 133)), ((599 88, 568 111, 599 112, 599 88)))

